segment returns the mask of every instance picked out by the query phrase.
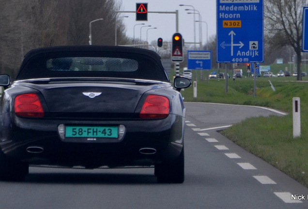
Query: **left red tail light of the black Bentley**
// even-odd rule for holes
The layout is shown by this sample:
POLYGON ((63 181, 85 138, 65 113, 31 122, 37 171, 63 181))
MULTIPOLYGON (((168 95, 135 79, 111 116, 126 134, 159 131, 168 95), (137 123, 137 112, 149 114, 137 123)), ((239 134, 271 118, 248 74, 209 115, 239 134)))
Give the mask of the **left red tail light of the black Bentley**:
POLYGON ((44 117, 44 109, 35 93, 21 94, 15 98, 15 114, 22 117, 44 117))

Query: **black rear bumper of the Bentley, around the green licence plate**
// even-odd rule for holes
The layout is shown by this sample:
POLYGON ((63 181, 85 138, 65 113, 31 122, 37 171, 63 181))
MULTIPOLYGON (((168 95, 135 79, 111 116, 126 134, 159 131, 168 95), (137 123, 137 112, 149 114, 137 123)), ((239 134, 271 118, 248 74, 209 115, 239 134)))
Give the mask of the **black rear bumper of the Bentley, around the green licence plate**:
POLYGON ((169 115, 157 120, 44 120, 1 116, 0 146, 9 157, 30 164, 60 166, 153 165, 176 159, 183 149, 185 119, 169 115), (10 118, 10 117, 8 117, 10 118), (59 124, 124 125, 118 142, 101 140, 65 142, 59 124), (33 149, 32 149, 33 148, 33 149))

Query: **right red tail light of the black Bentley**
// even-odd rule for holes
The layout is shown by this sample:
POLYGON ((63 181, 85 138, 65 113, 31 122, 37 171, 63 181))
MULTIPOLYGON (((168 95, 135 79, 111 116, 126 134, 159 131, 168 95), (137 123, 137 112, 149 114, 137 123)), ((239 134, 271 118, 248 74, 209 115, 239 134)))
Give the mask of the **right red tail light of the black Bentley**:
POLYGON ((142 119, 166 118, 169 115, 169 99, 159 95, 149 95, 140 111, 142 119))

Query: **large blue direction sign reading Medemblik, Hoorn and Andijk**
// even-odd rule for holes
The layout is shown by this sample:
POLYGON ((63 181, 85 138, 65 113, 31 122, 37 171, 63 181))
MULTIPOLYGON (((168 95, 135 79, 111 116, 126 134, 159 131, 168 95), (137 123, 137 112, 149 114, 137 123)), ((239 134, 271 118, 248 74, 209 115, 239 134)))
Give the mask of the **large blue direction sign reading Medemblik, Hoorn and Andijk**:
POLYGON ((217 0, 217 62, 263 62, 263 0, 217 0))

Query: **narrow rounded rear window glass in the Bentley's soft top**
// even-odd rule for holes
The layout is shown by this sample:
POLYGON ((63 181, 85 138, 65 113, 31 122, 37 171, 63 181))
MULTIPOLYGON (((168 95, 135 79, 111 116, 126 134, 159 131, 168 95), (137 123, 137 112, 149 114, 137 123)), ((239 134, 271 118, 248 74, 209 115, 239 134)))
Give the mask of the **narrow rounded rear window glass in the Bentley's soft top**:
POLYGON ((46 68, 50 71, 134 72, 138 69, 138 61, 125 58, 67 57, 47 60, 46 68))

